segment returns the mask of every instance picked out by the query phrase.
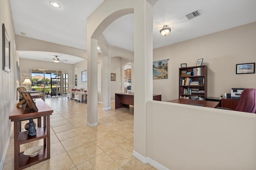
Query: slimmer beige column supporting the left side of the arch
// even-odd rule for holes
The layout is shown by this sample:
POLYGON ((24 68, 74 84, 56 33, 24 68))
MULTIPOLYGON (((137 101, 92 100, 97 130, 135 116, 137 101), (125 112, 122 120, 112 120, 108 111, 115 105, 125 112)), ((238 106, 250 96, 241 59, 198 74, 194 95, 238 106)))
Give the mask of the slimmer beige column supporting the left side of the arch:
POLYGON ((98 125, 98 40, 90 39, 88 45, 88 106, 87 125, 98 125))

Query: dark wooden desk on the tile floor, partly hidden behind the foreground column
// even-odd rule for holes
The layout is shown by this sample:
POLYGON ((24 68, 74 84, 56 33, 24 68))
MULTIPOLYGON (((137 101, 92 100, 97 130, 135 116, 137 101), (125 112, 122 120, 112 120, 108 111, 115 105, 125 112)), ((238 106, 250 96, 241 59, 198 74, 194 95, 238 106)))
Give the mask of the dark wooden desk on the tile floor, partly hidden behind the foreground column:
MULTIPOLYGON (((161 94, 153 94, 153 100, 161 101, 161 94)), ((121 107, 128 107, 129 105, 134 106, 134 93, 116 93, 115 94, 115 109, 121 107)))

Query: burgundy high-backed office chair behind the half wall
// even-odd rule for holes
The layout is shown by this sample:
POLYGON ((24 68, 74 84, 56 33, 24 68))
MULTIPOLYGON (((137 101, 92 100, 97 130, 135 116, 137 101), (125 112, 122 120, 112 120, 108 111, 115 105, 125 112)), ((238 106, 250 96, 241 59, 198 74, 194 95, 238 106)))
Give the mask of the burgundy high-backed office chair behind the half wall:
MULTIPOLYGON (((218 109, 227 109, 224 107, 216 107, 218 109)), ((228 109, 232 110, 232 109, 228 109)), ((243 111, 248 113, 255 113, 256 111, 256 89, 248 88, 244 90, 240 96, 238 105, 235 111, 243 111)))

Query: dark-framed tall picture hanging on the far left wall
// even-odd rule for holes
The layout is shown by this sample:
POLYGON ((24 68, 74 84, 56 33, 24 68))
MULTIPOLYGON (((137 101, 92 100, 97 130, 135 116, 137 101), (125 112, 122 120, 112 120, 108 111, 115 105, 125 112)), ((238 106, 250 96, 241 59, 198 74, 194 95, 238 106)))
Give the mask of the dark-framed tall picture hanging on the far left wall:
POLYGON ((2 24, 2 37, 3 37, 3 70, 6 72, 11 72, 10 68, 10 38, 7 34, 7 31, 2 24))

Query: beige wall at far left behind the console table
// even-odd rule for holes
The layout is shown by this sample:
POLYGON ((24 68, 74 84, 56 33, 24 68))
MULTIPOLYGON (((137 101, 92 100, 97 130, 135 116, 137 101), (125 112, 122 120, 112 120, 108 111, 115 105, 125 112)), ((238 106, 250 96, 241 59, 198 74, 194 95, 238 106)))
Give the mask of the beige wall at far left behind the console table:
POLYGON ((9 0, 0 0, 0 23, 0 169, 2 169, 13 124, 9 120, 9 115, 16 102, 15 96, 17 96, 16 61, 18 61, 18 56, 17 59, 14 58, 15 30, 9 0), (10 72, 2 69, 2 23, 10 38, 10 72))

